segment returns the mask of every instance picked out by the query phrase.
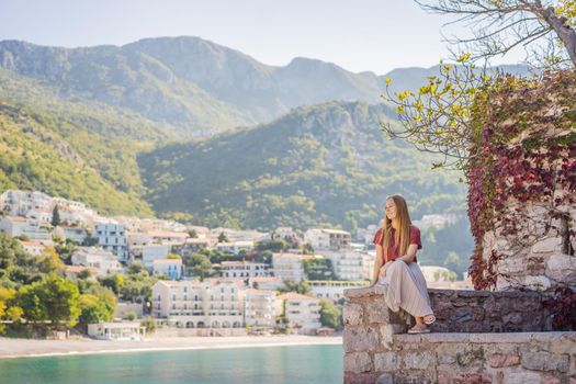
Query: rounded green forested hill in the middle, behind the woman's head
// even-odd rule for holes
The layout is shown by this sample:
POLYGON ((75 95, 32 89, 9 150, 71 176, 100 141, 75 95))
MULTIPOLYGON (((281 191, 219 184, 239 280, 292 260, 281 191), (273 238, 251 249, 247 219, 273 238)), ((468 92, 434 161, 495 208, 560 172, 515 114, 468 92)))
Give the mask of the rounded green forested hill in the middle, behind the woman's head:
POLYGON ((140 154, 145 199, 162 215, 249 228, 354 229, 377 223, 393 193, 407 197, 414 217, 463 208, 458 173, 431 171, 432 156, 383 136, 389 115, 383 105, 329 102, 140 154))

